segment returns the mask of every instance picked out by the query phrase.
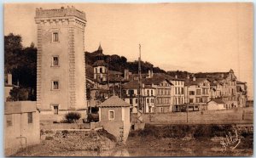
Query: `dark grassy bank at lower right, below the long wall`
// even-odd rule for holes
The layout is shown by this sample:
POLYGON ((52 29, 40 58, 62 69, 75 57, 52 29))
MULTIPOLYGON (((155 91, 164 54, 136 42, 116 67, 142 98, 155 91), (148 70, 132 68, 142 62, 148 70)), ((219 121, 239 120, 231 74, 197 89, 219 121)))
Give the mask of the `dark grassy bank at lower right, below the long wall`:
POLYGON ((144 130, 131 131, 126 148, 133 156, 250 156, 253 133, 231 125, 146 124, 144 130), (241 143, 235 150, 224 150, 220 141, 229 133, 234 136, 234 130, 241 143))

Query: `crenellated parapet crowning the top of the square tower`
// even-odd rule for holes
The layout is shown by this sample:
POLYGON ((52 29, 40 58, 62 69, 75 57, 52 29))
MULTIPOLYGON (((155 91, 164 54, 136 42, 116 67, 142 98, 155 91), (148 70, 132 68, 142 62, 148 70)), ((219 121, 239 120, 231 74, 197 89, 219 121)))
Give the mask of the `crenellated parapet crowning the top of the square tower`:
POLYGON ((77 18, 86 21, 85 13, 83 11, 79 11, 73 6, 71 8, 67 6, 67 8, 61 7, 55 9, 37 8, 36 10, 36 18, 52 18, 63 16, 76 16, 77 18))

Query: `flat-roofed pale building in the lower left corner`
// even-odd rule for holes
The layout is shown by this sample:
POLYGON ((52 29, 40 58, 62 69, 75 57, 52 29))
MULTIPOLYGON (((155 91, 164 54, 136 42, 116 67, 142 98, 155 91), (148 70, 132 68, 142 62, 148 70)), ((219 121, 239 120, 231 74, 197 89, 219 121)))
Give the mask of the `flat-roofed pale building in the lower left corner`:
POLYGON ((4 103, 4 153, 40 143, 39 112, 34 101, 4 103))

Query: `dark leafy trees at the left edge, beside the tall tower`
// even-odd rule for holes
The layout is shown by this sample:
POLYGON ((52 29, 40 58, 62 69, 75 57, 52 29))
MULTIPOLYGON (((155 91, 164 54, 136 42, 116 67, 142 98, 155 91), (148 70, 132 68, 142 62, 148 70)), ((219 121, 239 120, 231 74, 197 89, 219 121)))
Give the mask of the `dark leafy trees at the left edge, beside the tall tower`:
MULTIPOLYGON (((4 73, 12 73, 13 84, 19 83, 23 91, 26 89, 28 96, 21 100, 36 100, 37 48, 33 43, 30 47, 25 48, 21 42, 20 35, 10 33, 8 36, 4 36, 4 73)), ((17 93, 16 91, 19 89, 14 89, 13 93, 17 93)), ((17 100, 15 96, 12 98, 17 100)))

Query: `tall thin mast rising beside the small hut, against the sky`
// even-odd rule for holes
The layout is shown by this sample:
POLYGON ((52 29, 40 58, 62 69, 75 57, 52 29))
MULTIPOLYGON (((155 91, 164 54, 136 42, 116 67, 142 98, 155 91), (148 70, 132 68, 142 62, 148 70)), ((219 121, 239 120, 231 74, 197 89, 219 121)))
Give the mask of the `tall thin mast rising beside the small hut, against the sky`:
POLYGON ((141 100, 141 95, 142 95, 142 67, 141 67, 141 44, 139 44, 139 58, 138 58, 138 107, 137 107, 137 121, 139 123, 143 122, 143 107, 142 107, 142 100, 141 100))

